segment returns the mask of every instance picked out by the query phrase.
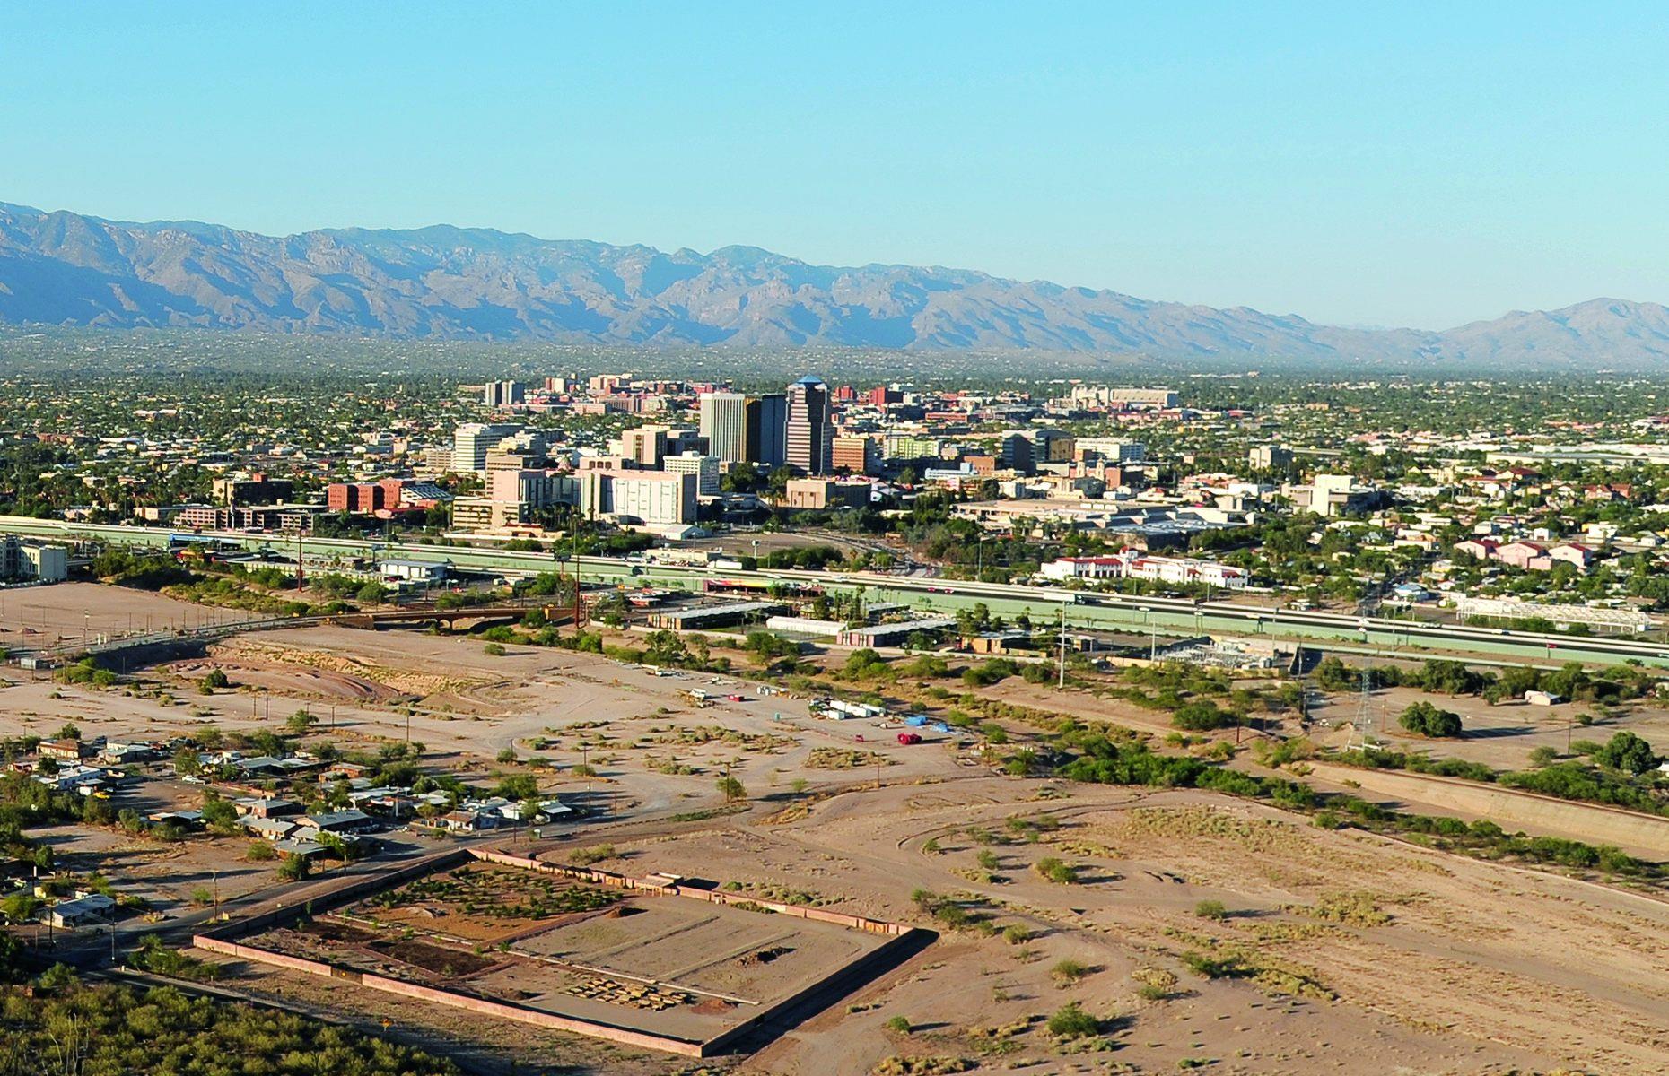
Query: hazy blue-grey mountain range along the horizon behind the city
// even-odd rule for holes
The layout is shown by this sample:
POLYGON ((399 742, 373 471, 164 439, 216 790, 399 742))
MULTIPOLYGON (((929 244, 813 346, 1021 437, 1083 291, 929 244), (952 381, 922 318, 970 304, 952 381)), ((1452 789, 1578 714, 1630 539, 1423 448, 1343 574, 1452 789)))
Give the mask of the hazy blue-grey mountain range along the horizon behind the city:
POLYGON ((491 229, 259 235, 0 204, 0 322, 649 347, 838 345, 1168 359, 1657 365, 1669 309, 1596 299, 1445 332, 1340 329, 958 269, 838 269, 491 229))

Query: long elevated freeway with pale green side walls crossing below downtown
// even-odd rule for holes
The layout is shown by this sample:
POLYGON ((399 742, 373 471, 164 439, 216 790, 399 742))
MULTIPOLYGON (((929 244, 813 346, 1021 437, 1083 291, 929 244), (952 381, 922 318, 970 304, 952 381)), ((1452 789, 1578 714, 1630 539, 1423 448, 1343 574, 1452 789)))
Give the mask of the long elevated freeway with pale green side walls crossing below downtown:
MULTIPOLYGON (((112 546, 167 547, 172 534, 164 527, 127 527, 112 524, 78 524, 58 519, 28 519, 0 515, 0 532, 60 539, 67 542, 105 542, 112 546)), ((210 530, 195 537, 210 537, 247 551, 277 549, 292 552, 294 535, 247 534, 240 530, 210 530)), ((432 546, 421 542, 386 542, 372 539, 302 537, 302 552, 315 564, 350 561, 355 557, 401 557, 412 561, 451 562, 457 567, 501 572, 506 576, 536 576, 549 571, 571 571, 572 559, 546 552, 517 552, 472 546, 432 546)), ((577 557, 579 574, 586 582, 653 582, 664 587, 701 589, 701 581, 714 574, 759 579, 763 582, 819 584, 838 591, 863 589, 876 601, 895 601, 955 612, 983 602, 993 614, 1013 617, 1021 612, 1033 622, 1058 622, 1065 614, 1068 627, 1105 629, 1155 636, 1218 634, 1260 637, 1292 644, 1349 644, 1357 652, 1382 651, 1387 656, 1409 657, 1469 656, 1507 662, 1566 662, 1619 664, 1639 661, 1647 666, 1669 667, 1669 644, 1641 642, 1634 639, 1606 639, 1559 636, 1457 624, 1429 624, 1387 617, 1359 617, 1339 612, 1298 612, 1292 609, 1267 609, 1227 601, 1193 601, 1183 597, 1142 597, 1127 594, 1095 594, 1063 587, 1026 584, 970 582, 888 576, 880 572, 811 572, 799 569, 761 569, 756 572, 708 567, 681 567, 669 564, 636 564, 624 557, 577 557)))

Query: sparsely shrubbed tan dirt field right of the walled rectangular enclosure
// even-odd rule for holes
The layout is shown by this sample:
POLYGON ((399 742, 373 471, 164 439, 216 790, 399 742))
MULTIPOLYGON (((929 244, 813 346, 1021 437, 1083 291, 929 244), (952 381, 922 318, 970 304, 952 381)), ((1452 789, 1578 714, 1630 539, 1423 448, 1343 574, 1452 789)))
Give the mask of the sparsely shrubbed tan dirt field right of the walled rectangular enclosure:
POLYGON ((925 963, 860 996, 875 1009, 818 1018, 753 1058, 758 1071, 861 1071, 861 1058, 901 1048, 1060 1058, 1038 1024, 1068 999, 1120 1021, 1113 1058, 1128 1071, 1175 1071, 1185 1058, 1230 1073, 1569 1061, 1649 1071, 1669 1056, 1669 909, 1656 901, 1197 792, 1071 789, 1038 801, 1036 791, 1001 779, 890 787, 826 801, 788 826, 623 851, 661 869, 804 879, 836 908, 916 921, 910 892, 931 889, 1031 931, 1020 944, 948 933, 925 963), (1040 841, 1003 836, 1006 819, 1043 814, 1061 826, 1040 841), (978 866, 981 851, 996 856, 995 871, 978 866), (1036 862, 1050 856, 1077 866, 1080 881, 1045 881, 1036 862), (1352 908, 1342 892, 1365 894, 1367 911, 1334 918, 1344 913, 1330 903, 1352 908), (1225 918, 1200 918, 1200 901, 1220 901, 1225 918), (1190 951, 1242 954, 1257 971, 1203 979, 1182 961, 1190 951), (1051 974, 1061 959, 1092 971, 1061 986, 1051 974), (1163 998, 1140 994, 1167 976, 1175 984, 1163 998), (900 1043, 883 1029, 891 1016, 928 1031, 900 1043), (1026 1029, 975 1031, 1016 1024, 1026 1029), (833 1058, 846 1068, 828 1068, 833 1058))

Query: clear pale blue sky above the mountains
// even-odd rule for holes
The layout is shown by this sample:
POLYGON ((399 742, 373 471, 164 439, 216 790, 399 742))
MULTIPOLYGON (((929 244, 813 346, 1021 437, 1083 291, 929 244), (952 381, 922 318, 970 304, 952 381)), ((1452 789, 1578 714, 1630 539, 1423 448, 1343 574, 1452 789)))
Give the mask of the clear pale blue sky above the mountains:
POLYGON ((1669 302, 1669 5, 12 3, 0 200, 1447 327, 1669 302))

